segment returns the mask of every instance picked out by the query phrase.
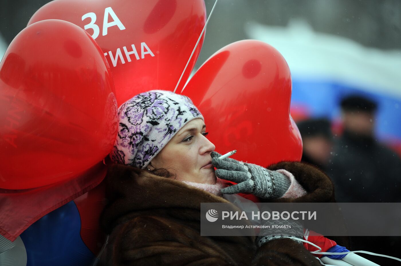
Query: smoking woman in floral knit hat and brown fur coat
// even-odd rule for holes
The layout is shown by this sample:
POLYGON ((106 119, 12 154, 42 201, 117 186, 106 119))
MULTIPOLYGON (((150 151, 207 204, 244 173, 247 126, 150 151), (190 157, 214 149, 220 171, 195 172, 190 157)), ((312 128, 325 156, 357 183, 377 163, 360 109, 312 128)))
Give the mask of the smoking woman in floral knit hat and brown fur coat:
POLYGON ((235 193, 252 193, 261 202, 332 202, 333 185, 324 173, 298 162, 265 169, 219 159, 201 113, 188 97, 170 91, 136 95, 118 114, 101 264, 320 265, 290 238, 201 236, 200 203, 227 203, 221 196, 235 193))

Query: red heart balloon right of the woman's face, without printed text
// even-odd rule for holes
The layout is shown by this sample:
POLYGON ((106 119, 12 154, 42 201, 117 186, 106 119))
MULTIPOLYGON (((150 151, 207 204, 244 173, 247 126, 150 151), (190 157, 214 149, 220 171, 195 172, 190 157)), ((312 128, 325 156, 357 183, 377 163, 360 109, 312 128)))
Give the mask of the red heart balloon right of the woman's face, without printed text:
POLYGON ((301 136, 290 116, 290 69, 268 44, 243 40, 225 46, 182 93, 205 117, 216 151, 236 149, 233 158, 262 166, 301 159, 301 136))

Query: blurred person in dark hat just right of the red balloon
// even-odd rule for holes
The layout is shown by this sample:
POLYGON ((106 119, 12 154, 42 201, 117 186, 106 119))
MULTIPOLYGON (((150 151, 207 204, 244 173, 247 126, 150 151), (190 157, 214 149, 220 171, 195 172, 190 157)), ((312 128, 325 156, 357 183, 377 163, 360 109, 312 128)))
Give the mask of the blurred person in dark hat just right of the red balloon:
POLYGON ((297 126, 303 144, 301 161, 326 172, 333 147, 330 121, 326 118, 313 118, 300 121, 297 126))

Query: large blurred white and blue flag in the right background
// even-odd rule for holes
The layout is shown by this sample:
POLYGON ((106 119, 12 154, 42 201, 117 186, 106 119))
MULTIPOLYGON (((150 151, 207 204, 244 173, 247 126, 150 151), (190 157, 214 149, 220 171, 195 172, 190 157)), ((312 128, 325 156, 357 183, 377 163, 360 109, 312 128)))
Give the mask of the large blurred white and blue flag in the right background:
POLYGON ((401 155, 401 50, 368 48, 348 38, 314 32, 304 20, 292 20, 288 27, 251 23, 246 32, 286 58, 292 73, 295 121, 325 116, 336 129, 340 99, 358 93, 378 103, 377 138, 401 155))

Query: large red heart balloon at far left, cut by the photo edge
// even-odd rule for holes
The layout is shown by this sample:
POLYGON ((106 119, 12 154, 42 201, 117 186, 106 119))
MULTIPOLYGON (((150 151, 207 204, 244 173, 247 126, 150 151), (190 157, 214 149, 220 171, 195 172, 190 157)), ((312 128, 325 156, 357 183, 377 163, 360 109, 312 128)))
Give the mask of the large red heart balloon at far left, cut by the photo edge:
POLYGON ((103 52, 78 26, 28 26, 0 63, 0 188, 28 189, 77 176, 117 134, 117 103, 103 52))

